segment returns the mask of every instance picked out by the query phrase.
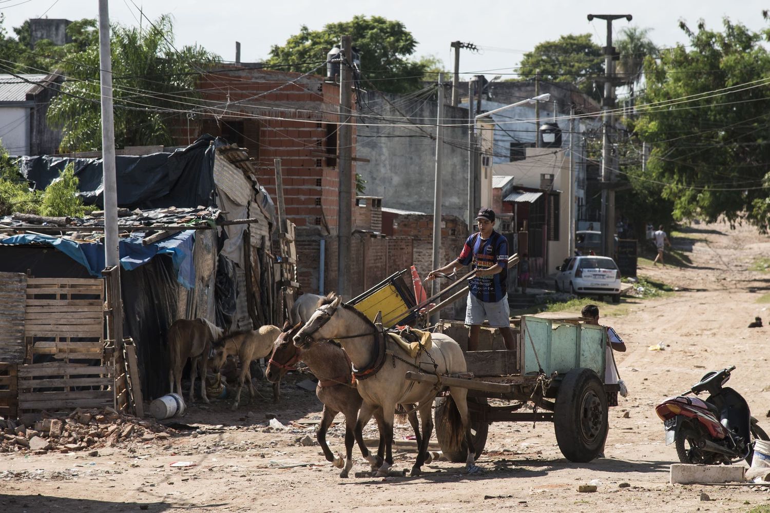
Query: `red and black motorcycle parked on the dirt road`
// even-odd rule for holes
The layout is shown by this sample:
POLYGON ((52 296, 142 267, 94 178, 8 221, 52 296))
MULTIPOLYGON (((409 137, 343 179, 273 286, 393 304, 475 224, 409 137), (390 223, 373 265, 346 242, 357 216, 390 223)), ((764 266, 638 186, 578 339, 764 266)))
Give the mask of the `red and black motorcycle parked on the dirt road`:
POLYGON ((746 460, 752 464, 754 441, 770 440, 752 417, 746 400, 725 387, 735 365, 708 372, 682 395, 655 407, 663 421, 666 445, 676 444, 682 463, 730 465, 746 460), (708 392, 708 398, 687 397, 708 392))

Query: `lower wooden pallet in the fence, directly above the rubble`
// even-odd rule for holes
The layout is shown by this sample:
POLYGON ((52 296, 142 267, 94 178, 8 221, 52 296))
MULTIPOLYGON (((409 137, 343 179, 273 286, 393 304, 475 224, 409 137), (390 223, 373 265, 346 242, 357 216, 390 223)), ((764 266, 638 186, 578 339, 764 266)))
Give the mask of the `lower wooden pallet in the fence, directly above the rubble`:
POLYGON ((112 372, 104 365, 49 362, 18 366, 18 410, 112 406, 112 372))

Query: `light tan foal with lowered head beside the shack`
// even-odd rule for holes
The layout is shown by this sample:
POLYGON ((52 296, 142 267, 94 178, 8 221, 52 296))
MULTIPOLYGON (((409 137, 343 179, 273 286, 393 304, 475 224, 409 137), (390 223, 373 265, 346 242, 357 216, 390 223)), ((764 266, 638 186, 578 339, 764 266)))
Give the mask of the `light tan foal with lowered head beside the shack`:
MULTIPOLYGON (((241 371, 238 376, 238 389, 236 391, 236 400, 233 402, 232 409, 237 410, 240 403, 240 393, 243 389, 243 383, 249 384, 251 398, 256 395, 256 389, 251 382, 251 371, 249 366, 254 360, 266 358, 273 351, 273 341, 278 338, 281 328, 273 325, 264 325, 254 331, 243 331, 233 333, 214 342, 214 360, 212 366, 215 371, 224 365, 227 355, 238 355, 241 371)), ((276 396, 276 388, 273 388, 273 398, 276 396)), ((251 401, 249 398, 249 401, 251 401)))

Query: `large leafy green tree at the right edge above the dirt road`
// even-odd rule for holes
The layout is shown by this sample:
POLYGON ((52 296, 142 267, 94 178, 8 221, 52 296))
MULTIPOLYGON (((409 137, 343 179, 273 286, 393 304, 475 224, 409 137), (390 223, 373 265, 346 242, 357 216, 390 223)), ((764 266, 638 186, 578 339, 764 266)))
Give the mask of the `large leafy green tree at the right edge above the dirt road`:
MULTIPOLYGON (((767 15, 765 14, 765 18, 767 15)), ((645 62, 636 132, 651 145, 648 175, 677 219, 724 215, 770 222, 770 30, 724 20, 724 31, 680 23, 689 45, 645 62)))

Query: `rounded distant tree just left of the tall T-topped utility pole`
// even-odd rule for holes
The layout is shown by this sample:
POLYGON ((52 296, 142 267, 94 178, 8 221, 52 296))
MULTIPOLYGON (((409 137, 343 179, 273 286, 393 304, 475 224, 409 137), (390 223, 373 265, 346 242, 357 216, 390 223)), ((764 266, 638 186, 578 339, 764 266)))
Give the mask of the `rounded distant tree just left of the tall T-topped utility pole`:
POLYGON ((524 54, 517 71, 524 78, 539 71, 549 82, 579 82, 582 92, 601 100, 600 88, 594 88, 591 76, 604 72, 604 55, 591 41, 591 34, 562 35, 557 41, 541 42, 524 54))

